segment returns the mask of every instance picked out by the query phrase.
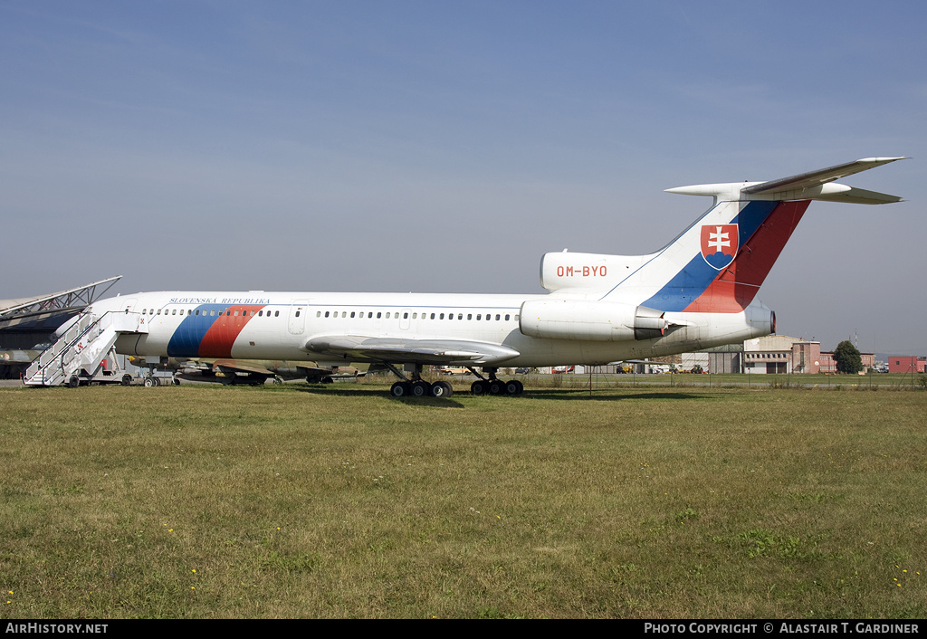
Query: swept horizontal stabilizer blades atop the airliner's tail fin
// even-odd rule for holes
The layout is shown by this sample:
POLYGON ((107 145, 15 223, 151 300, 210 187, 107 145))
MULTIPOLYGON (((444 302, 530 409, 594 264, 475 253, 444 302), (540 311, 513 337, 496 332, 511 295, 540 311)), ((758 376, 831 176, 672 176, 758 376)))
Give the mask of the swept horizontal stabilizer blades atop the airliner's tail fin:
MULTIPOLYGON (((812 171, 810 173, 799 173, 798 175, 783 177, 779 180, 769 180, 768 182, 745 186, 742 191, 747 195, 753 196, 782 196, 794 199, 796 198, 794 195, 796 191, 800 192, 814 189, 833 182, 834 180, 839 180, 847 175, 868 171, 869 169, 874 169, 877 166, 882 166, 883 164, 888 164, 895 160, 905 160, 905 158, 864 158, 862 160, 854 160, 844 164, 837 164, 827 169, 819 169, 818 171, 812 171)), ((901 198, 890 196, 885 193, 877 193, 875 191, 867 191, 863 188, 843 185, 835 186, 840 186, 840 188, 829 189, 815 197, 815 199, 857 204, 886 204, 889 202, 901 201, 901 198)))

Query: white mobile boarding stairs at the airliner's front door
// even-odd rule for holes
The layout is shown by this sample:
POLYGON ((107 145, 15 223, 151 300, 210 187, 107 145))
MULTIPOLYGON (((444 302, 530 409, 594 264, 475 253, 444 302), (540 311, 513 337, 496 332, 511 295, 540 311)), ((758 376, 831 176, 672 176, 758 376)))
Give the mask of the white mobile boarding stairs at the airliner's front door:
POLYGON ((138 313, 81 313, 56 331, 55 343, 26 369, 26 386, 70 386, 92 381, 127 386, 133 377, 116 359, 116 339, 125 333, 147 333, 138 313), (108 364, 108 365, 107 365, 108 364), (122 375, 120 375, 122 373, 122 375))

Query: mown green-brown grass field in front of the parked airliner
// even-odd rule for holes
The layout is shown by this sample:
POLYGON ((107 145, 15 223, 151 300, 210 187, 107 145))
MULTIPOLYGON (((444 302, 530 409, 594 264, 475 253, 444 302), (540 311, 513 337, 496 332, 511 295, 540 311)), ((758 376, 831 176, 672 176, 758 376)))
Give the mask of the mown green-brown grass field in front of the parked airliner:
POLYGON ((927 617, 927 392, 387 389, 0 390, 0 617, 927 617))

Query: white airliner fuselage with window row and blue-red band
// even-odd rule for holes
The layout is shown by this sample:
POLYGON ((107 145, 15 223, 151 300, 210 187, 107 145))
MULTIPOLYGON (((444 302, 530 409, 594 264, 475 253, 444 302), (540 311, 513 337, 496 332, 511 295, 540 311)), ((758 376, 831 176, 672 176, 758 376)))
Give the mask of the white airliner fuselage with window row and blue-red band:
MULTIPOLYGON (((121 335, 123 354, 233 357, 346 364, 307 348, 313 338, 363 336, 444 339, 502 345, 517 355, 500 365, 605 364, 695 351, 768 335, 771 313, 760 305, 742 313, 666 313, 678 327, 657 339, 620 341, 539 339, 519 329, 527 300, 548 295, 157 292, 97 301, 93 313, 137 313, 146 332, 121 335)), ((378 361, 387 358, 352 358, 378 361)), ((388 358, 402 363, 401 356, 388 358)))

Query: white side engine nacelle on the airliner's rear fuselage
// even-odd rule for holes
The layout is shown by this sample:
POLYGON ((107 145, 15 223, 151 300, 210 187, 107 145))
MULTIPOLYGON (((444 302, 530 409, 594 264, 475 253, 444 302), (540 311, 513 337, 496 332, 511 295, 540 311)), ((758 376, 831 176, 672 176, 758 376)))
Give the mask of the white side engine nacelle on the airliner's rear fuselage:
POLYGON ((544 339, 654 339, 667 326, 662 311, 611 301, 529 300, 518 319, 522 334, 544 339))

